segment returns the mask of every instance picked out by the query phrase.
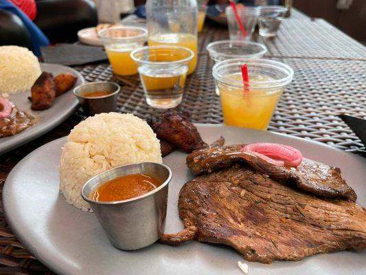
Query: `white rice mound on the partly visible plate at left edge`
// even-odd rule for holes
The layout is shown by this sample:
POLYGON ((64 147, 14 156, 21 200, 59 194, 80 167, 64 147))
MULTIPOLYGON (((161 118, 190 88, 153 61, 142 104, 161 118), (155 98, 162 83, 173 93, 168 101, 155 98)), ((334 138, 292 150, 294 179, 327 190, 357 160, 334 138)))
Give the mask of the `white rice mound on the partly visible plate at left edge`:
POLYGON ((38 59, 26 47, 0 47, 0 94, 30 91, 40 75, 38 59))

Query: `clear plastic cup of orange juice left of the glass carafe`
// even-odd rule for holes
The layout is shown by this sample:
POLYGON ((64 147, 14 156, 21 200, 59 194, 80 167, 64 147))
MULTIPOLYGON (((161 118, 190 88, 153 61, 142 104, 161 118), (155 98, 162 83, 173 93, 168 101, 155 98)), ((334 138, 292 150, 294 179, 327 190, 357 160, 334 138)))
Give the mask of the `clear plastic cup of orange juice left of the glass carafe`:
POLYGON ((137 74, 137 65, 130 53, 144 46, 148 38, 148 30, 140 27, 113 27, 99 32, 102 38, 113 74, 131 76, 137 74))

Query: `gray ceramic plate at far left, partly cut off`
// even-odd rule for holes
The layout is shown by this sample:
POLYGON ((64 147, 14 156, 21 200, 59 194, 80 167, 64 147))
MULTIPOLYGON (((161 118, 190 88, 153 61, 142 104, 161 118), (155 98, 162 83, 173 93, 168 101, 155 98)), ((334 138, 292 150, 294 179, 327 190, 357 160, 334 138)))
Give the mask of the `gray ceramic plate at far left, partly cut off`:
MULTIPOLYGON (((63 65, 57 64, 47 64, 41 63, 42 72, 50 72, 57 76, 58 74, 63 73, 71 73, 74 76, 78 77, 78 81, 75 86, 78 86, 85 82, 82 75, 76 71, 76 69, 72 69, 71 67, 66 67, 63 65)), ((16 106, 21 111, 31 111, 30 105, 31 102, 28 100, 28 96, 30 96, 30 91, 24 91, 20 94, 12 94, 9 96, 9 99, 12 100, 16 104, 16 106)), ((58 124, 64 121, 66 118, 75 111, 78 106, 78 99, 73 95, 71 91, 67 91, 67 93, 58 96, 55 99, 52 107, 45 111, 31 111, 37 117, 41 117, 41 120, 35 124, 34 126, 25 129, 25 131, 18 133, 16 135, 12 135, 10 137, 0 137, 0 155, 8 152, 26 142, 30 142, 34 140, 36 137, 47 133, 47 131, 54 129, 58 124)))

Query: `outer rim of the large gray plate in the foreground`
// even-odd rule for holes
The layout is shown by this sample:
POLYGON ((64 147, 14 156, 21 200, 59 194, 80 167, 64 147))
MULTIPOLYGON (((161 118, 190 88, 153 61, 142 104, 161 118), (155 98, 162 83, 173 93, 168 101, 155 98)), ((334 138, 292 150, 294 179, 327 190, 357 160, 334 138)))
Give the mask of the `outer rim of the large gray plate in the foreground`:
MULTIPOLYGON (((218 127, 225 126, 225 127, 229 127, 229 128, 240 128, 240 127, 235 127, 235 126, 227 126, 225 124, 195 123, 195 125, 196 126, 209 126, 209 127, 212 127, 212 126, 218 126, 218 127)), ((302 137, 296 137, 296 136, 287 135, 287 134, 284 134, 284 133, 275 133, 273 131, 261 131, 261 130, 255 130, 255 129, 247 129, 247 130, 253 131, 253 132, 258 132, 258 133, 267 133, 269 135, 279 135, 279 136, 282 136, 282 137, 298 140, 298 141, 305 142, 305 143, 310 143, 310 144, 314 144, 314 145, 318 145, 318 146, 320 145, 324 148, 331 149, 332 151, 336 151, 336 152, 339 152, 339 153, 351 155, 352 157, 356 157, 357 159, 360 159, 360 160, 362 159, 363 160, 363 157, 361 157, 360 155, 357 155, 355 153, 350 153, 350 152, 344 151, 340 148, 335 148, 333 146, 330 146, 328 144, 323 144, 322 142, 317 142, 315 140, 307 140, 307 139, 302 138, 302 137)), ((53 144, 53 143, 61 142, 61 140, 66 140, 66 139, 67 139, 67 136, 59 137, 56 140, 52 140, 51 142, 47 142, 46 144, 43 144, 42 146, 36 148, 34 151, 30 152, 28 155, 23 157, 23 159, 21 159, 21 161, 18 162, 18 164, 16 164, 16 166, 14 166, 14 168, 12 168, 12 170, 8 174, 8 177, 6 178, 5 183, 3 185, 2 203, 3 203, 3 213, 4 213, 4 216, 5 216, 5 219, 8 223, 8 225, 9 225, 10 229, 14 233, 14 236, 16 236, 16 238, 23 245, 25 250, 27 250, 27 252, 34 251, 34 249, 33 249, 34 246, 32 245, 32 243, 25 240, 26 238, 24 236, 26 234, 24 234, 24 236, 22 234, 19 234, 18 230, 16 230, 16 228, 14 227, 14 221, 12 221, 11 216, 8 216, 8 207, 6 206, 7 203, 5 203, 5 200, 6 200, 5 198, 8 197, 8 196, 5 196, 5 193, 8 192, 7 190, 8 190, 8 186, 10 186, 10 179, 11 179, 12 175, 14 173, 16 173, 16 169, 19 169, 22 166, 23 162, 25 162, 27 159, 31 158, 34 153, 43 150, 42 149, 43 147, 49 146, 50 144, 53 144), (10 217, 10 219, 9 219, 9 217, 10 217)), ((307 258, 309 258, 309 257, 307 257, 307 258)), ((36 258, 36 260, 40 261, 43 265, 45 265, 50 270, 52 270, 52 272, 56 272, 56 274, 71 274, 70 271, 67 270, 67 268, 65 268, 63 265, 60 265, 60 263, 56 263, 56 261, 52 261, 52 263, 51 263, 51 262, 45 261, 45 259, 43 259, 43 258, 42 259, 36 258)))

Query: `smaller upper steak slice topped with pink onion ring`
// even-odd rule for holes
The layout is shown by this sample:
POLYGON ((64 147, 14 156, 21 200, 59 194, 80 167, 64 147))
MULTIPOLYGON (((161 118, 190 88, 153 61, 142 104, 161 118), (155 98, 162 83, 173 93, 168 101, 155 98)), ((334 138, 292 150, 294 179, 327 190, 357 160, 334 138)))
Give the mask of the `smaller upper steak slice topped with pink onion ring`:
POLYGON ((187 166, 194 175, 200 175, 236 162, 245 162, 260 173, 284 184, 295 184, 314 195, 356 201, 356 192, 342 179, 339 168, 310 159, 303 159, 297 168, 276 166, 255 155, 241 152, 243 146, 244 144, 211 146, 196 150, 187 156, 187 166))

